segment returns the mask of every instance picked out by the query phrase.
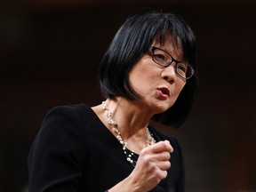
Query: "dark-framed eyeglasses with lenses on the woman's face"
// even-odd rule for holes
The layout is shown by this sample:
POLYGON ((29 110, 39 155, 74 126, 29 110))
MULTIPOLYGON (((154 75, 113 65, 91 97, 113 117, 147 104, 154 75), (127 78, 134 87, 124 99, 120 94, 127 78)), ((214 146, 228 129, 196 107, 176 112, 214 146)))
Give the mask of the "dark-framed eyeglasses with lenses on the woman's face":
POLYGON ((168 67, 174 61, 175 73, 181 78, 189 79, 194 75, 194 69, 188 64, 188 62, 175 60, 172 58, 171 54, 155 46, 150 46, 148 50, 151 53, 152 60, 160 66, 168 67))

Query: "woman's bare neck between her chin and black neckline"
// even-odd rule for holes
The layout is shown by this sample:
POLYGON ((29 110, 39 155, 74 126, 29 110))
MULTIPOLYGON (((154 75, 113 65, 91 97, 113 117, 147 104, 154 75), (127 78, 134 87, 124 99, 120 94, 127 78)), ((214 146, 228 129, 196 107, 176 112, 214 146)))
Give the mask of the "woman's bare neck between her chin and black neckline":
POLYGON ((105 122, 108 122, 106 126, 125 148, 139 154, 142 148, 156 143, 148 131, 150 118, 141 118, 132 102, 106 100, 100 107, 104 111, 105 122))

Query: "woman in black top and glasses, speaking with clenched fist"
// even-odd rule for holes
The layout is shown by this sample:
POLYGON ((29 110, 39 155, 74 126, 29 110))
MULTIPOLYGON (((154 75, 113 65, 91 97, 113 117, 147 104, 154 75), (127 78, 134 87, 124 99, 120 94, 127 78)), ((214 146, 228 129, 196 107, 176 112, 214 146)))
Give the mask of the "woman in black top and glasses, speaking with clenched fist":
POLYGON ((186 119, 196 89, 195 43, 173 14, 126 20, 100 66, 106 100, 45 116, 28 156, 29 190, 184 191, 177 141, 149 123, 186 119))

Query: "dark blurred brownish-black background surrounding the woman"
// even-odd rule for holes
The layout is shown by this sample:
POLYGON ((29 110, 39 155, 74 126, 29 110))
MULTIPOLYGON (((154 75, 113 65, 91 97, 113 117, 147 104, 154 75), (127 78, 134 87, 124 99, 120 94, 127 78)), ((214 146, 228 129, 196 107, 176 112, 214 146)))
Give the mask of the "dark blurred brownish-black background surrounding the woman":
POLYGON ((254 0, 2 0, 0 191, 25 192, 27 156, 45 113, 102 100, 97 68, 117 28, 142 7, 180 14, 198 42, 200 87, 174 135, 187 192, 256 191, 254 0))

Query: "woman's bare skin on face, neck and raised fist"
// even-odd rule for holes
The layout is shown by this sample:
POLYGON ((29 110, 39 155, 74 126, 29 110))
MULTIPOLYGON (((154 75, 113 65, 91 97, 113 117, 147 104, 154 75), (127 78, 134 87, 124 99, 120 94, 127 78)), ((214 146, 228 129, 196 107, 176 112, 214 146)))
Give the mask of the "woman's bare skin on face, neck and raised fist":
MULTIPOLYGON (((173 45, 172 38, 169 38, 164 46, 156 42, 152 45, 169 52, 176 60, 183 60, 182 51, 173 45)), ((106 100, 106 106, 113 113, 113 119, 118 124, 123 140, 128 142, 128 148, 140 154, 140 157, 132 173, 108 189, 109 192, 149 191, 167 177, 173 148, 168 140, 145 148, 146 127, 152 116, 172 107, 186 84, 184 79, 176 75, 173 64, 167 68, 161 67, 152 60, 149 53, 134 65, 129 77, 132 88, 142 96, 142 100, 131 101, 116 97, 114 100, 106 100), (159 87, 168 89, 169 95, 163 96, 163 92, 158 90, 159 87)), ((92 109, 109 129, 102 105, 92 109)))

